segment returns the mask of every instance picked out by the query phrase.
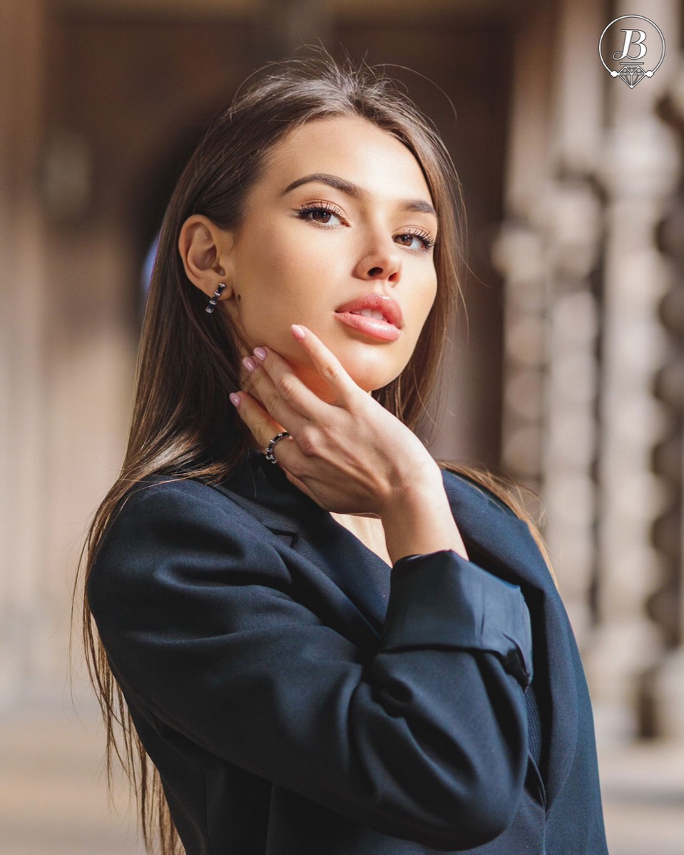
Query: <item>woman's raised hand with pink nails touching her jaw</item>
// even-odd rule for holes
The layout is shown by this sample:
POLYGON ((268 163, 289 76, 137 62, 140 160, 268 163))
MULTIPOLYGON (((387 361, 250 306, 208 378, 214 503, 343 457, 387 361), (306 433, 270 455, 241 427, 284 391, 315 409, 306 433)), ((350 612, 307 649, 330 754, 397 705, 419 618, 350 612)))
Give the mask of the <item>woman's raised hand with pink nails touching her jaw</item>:
POLYGON ((318 336, 304 327, 293 327, 293 335, 333 403, 318 398, 275 351, 256 348, 245 361, 254 395, 240 392, 238 404, 262 448, 276 433, 290 434, 274 450, 288 480, 326 510, 375 516, 408 488, 442 489, 437 463, 418 437, 354 383, 318 336))

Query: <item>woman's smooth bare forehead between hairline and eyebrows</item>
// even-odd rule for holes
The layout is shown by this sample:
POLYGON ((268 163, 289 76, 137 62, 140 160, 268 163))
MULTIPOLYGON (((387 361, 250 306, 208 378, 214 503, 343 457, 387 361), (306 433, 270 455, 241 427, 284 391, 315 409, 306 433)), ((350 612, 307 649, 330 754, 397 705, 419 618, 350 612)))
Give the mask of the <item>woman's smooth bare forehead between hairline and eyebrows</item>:
POLYGON ((266 157, 262 181, 281 191, 303 175, 326 173, 378 198, 424 198, 418 161, 392 134, 358 116, 315 119, 295 128, 266 157))

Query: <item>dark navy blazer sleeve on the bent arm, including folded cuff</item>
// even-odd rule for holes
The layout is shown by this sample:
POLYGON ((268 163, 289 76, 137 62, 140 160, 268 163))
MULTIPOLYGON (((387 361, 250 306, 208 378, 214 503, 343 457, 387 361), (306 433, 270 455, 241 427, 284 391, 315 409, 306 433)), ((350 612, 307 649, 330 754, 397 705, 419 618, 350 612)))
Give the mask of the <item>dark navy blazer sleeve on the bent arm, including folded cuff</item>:
POLYGON ((136 492, 87 583, 127 697, 385 834, 461 849, 503 832, 526 771, 520 590, 453 551, 402 558, 384 634, 362 653, 307 604, 270 533, 190 483, 136 492))

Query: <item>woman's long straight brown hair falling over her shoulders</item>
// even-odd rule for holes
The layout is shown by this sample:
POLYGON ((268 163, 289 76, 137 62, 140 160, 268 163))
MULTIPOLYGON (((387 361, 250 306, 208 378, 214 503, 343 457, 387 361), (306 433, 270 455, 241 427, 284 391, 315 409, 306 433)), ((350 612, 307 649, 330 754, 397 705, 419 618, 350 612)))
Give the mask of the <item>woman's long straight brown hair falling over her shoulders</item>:
MULTIPOLYGON (((187 280, 177 250, 183 222, 201 214, 222 229, 238 228, 247 194, 272 146, 305 122, 341 115, 371 121, 406 145, 425 174, 437 209, 437 298, 407 368, 373 392, 412 430, 425 416, 460 298, 462 203, 449 153, 413 103, 376 69, 355 68, 351 62, 338 65, 324 54, 271 65, 213 118, 164 215, 140 340, 128 447, 121 474, 96 511, 86 538, 81 556, 84 583, 112 517, 142 479, 164 473, 170 478, 217 483, 251 445, 250 434, 228 398, 231 390, 240 387, 241 341, 223 305, 219 303, 216 314, 208 318, 205 296, 187 280), (226 431, 229 442, 223 443, 223 452, 208 454, 226 431)), ((489 488, 527 519, 514 492, 490 475, 442 465, 489 488)), ((86 597, 83 638, 107 732, 108 773, 115 757, 127 770, 147 851, 179 855, 181 843, 158 772, 146 756, 111 674, 86 597)))

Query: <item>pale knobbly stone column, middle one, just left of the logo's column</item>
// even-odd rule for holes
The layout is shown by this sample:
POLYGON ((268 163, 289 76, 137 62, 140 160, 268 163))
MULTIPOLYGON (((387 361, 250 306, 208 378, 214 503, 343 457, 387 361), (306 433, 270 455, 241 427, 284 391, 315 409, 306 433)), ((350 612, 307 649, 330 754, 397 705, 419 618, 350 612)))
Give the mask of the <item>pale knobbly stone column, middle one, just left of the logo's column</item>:
POLYGON ((580 646, 590 645, 596 578, 598 328, 602 205, 594 178, 602 133, 600 9, 563 0, 556 26, 551 180, 535 215, 547 246, 544 389, 545 536, 580 646))

